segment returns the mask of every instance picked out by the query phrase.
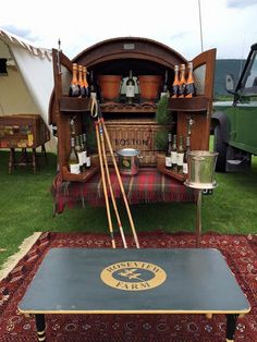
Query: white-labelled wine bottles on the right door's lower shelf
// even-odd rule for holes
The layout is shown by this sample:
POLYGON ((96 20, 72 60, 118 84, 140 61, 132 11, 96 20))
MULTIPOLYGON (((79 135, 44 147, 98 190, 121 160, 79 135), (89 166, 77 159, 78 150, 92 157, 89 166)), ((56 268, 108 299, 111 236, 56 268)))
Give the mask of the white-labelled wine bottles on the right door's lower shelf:
POLYGON ((188 173, 187 157, 191 150, 191 137, 180 135, 179 141, 176 134, 172 136, 168 134, 168 149, 166 154, 166 168, 179 174, 188 173))

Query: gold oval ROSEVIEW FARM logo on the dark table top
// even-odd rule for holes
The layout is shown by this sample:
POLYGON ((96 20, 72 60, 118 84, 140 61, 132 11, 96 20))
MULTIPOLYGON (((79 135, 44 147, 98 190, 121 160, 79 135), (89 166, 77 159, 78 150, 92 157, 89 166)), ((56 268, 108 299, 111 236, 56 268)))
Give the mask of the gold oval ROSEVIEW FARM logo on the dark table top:
POLYGON ((107 285, 118 290, 145 291, 161 285, 167 273, 154 264, 122 261, 106 267, 100 277, 107 285))

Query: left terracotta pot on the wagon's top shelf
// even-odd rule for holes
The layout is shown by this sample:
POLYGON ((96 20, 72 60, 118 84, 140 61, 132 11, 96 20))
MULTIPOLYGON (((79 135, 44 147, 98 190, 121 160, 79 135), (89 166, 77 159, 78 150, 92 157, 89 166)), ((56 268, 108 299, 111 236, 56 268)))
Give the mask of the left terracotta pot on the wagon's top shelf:
POLYGON ((118 101, 121 87, 121 75, 99 75, 98 84, 100 87, 102 101, 118 101))

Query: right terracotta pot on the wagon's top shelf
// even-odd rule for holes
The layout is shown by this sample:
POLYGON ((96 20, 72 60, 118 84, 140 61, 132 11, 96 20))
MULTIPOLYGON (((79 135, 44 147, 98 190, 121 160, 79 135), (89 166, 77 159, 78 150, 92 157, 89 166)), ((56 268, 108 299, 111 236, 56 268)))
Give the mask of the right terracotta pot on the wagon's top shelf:
POLYGON ((157 100, 162 84, 162 77, 159 75, 139 75, 138 81, 142 101, 154 102, 157 100))

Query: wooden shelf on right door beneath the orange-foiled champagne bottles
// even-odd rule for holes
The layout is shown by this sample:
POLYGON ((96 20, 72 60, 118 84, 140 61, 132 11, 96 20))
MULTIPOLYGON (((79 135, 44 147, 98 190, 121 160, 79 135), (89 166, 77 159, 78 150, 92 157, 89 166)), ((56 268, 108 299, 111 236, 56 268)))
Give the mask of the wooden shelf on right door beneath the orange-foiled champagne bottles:
POLYGON ((169 99, 169 109, 172 111, 204 112, 207 111, 208 105, 209 100, 205 96, 169 99))

